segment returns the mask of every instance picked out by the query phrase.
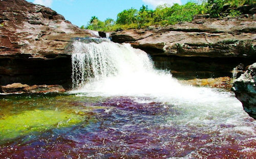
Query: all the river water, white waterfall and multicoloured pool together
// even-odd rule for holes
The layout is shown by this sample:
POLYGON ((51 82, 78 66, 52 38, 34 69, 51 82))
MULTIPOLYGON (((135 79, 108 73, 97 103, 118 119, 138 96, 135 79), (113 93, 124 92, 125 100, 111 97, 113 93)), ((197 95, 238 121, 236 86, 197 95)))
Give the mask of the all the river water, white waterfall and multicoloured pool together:
POLYGON ((255 158, 234 94, 181 85, 129 44, 73 43, 73 90, 0 96, 0 158, 255 158))

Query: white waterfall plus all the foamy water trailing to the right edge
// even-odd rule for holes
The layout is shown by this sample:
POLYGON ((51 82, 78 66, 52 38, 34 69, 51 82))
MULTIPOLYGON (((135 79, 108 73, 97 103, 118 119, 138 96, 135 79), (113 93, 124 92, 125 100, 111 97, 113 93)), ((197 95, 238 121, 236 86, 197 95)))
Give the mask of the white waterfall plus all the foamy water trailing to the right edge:
MULTIPOLYGON (((129 96, 137 102, 163 102, 182 112, 167 124, 211 125, 224 123, 243 128, 247 118, 241 102, 230 92, 183 86, 167 71, 156 70, 146 52, 130 44, 109 40, 74 42, 71 93, 86 96, 129 96), (147 99, 143 98, 146 97, 147 99), (175 122, 175 123, 174 123, 175 122)), ((248 132, 255 134, 255 122, 248 132)), ((239 127, 237 127, 239 129, 239 127)))

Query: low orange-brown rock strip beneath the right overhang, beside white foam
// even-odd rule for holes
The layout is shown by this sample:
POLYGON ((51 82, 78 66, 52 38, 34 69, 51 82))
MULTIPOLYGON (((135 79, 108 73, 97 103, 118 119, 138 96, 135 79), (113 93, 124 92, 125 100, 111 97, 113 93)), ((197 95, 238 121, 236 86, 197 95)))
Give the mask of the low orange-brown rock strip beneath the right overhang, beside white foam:
POLYGON ((219 77, 219 78, 206 78, 194 80, 180 81, 180 83, 191 86, 207 86, 212 88, 223 88, 230 90, 232 87, 230 77, 219 77))

